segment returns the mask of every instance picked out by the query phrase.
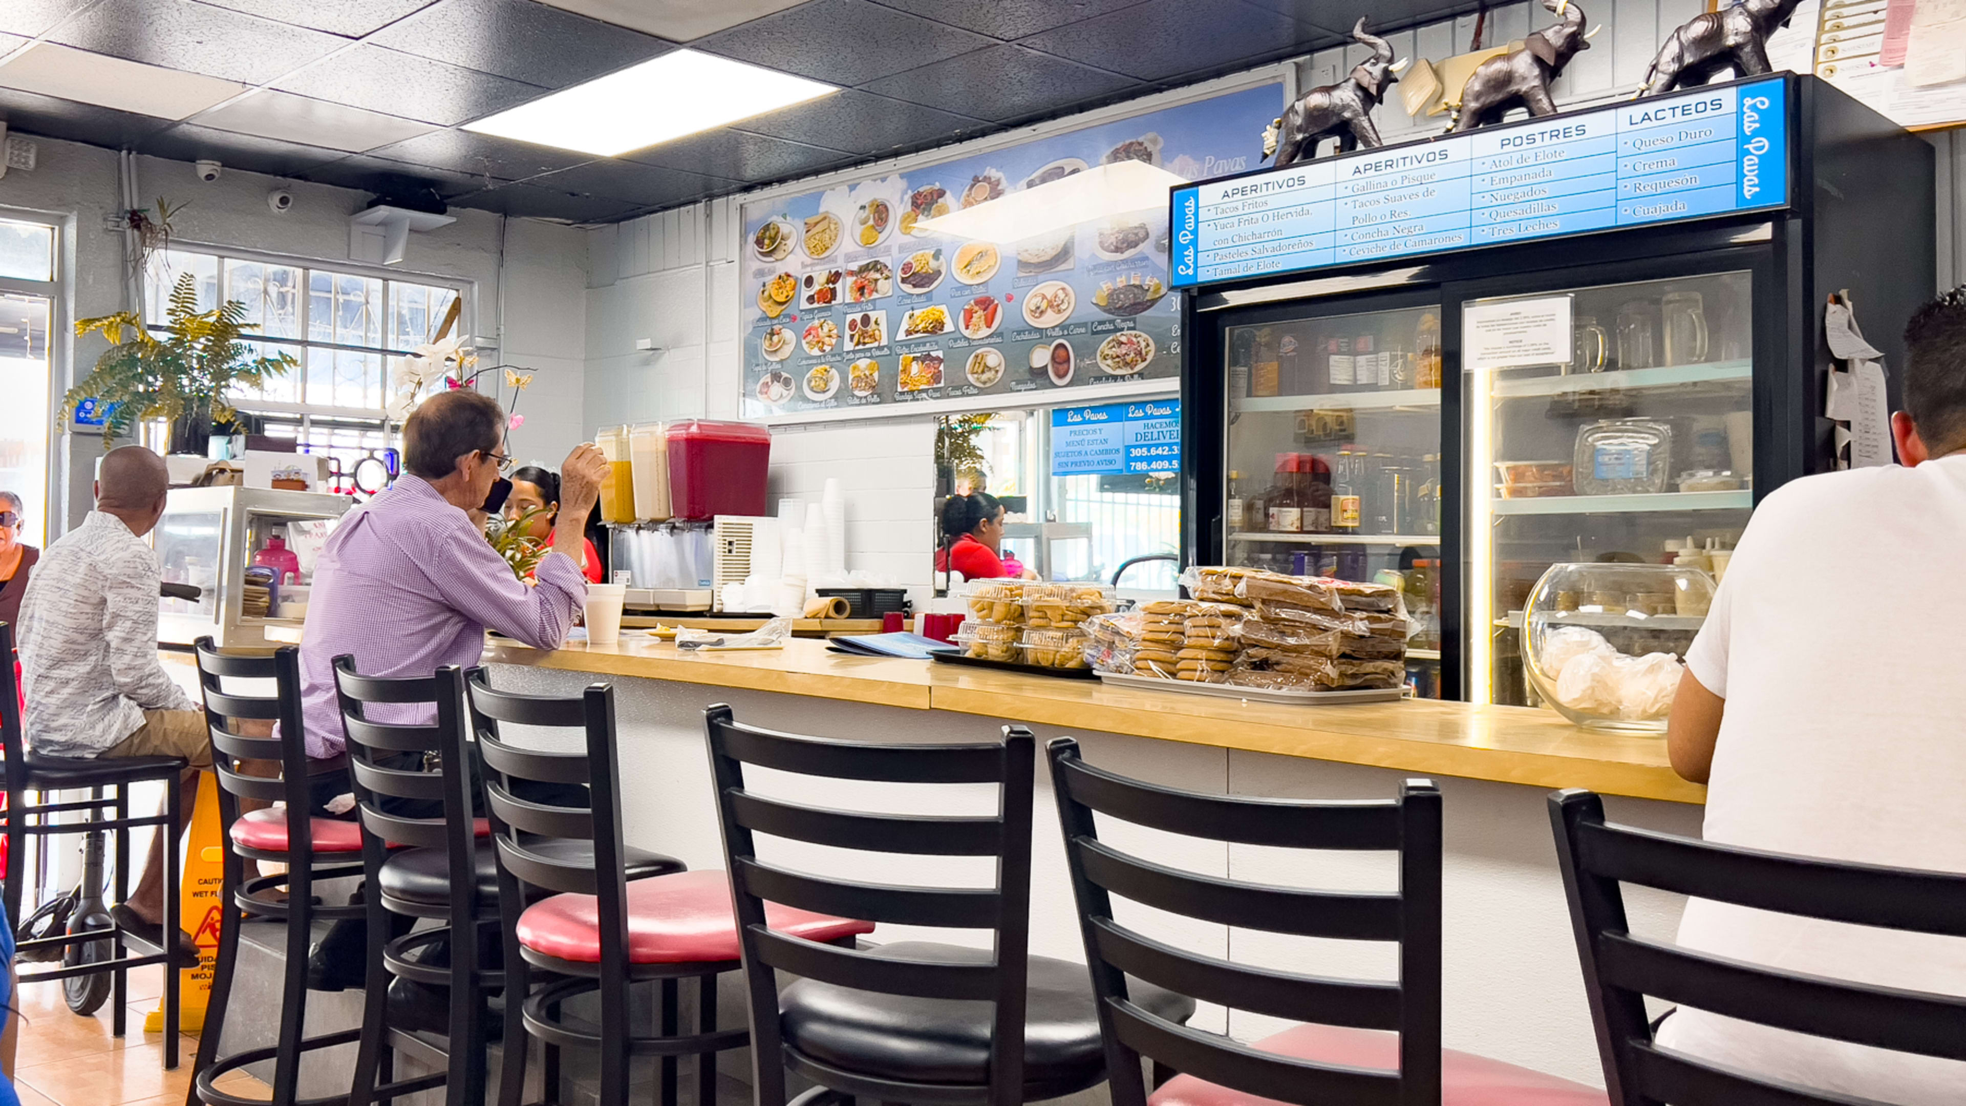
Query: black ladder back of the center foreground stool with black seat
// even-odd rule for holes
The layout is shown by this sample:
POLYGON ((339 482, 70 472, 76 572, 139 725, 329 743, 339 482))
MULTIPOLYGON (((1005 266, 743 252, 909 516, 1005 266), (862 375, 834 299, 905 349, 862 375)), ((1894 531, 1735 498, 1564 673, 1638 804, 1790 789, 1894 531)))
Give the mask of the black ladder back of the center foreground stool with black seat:
MULTIPOLYGON (((1007 726, 1003 744, 883 746, 832 742, 739 724, 729 707, 706 710, 710 764, 723 825, 745 980, 757 1100, 784 1104, 784 1043, 777 972, 863 992, 995 1004, 987 1096, 1024 1100, 1024 998, 1030 935, 1030 785, 1036 744, 1007 726), (745 766, 828 779, 885 783, 995 783, 995 815, 873 815, 769 799, 745 787, 745 766), (792 872, 757 856, 755 834, 867 852, 995 856, 995 888, 906 888, 792 872), (891 960, 773 931, 765 903, 891 925, 989 929, 993 962, 891 960)), ((904 1084, 881 1094, 908 1100, 904 1084)))

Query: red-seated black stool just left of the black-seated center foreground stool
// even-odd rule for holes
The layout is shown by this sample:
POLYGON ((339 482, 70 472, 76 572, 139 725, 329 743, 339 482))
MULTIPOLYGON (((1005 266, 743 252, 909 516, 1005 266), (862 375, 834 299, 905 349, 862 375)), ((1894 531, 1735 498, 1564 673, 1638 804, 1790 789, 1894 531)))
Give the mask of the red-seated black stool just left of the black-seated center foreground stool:
MULTIPOLYGON (((678 860, 623 844, 613 689, 592 685, 578 699, 517 695, 493 691, 484 669, 472 669, 466 691, 505 931, 499 1102, 517 1106, 533 1035, 545 1049, 552 1102, 558 1049, 584 1047, 600 1053, 600 1102, 627 1102, 631 1057, 661 1057, 661 1102, 676 1106, 676 1057, 694 1055, 698 1104, 714 1106, 716 1053, 749 1041, 743 1029, 716 1027, 716 978, 739 966, 729 882, 723 872, 684 872, 678 860), (501 736, 507 724, 582 730, 586 752, 517 748, 501 736), (550 972, 537 992, 533 970, 550 972), (688 978, 696 980, 698 1027, 676 1035, 676 980, 688 978), (653 1037, 629 1033, 629 990, 645 980, 661 980, 653 1037), (562 1012, 582 996, 598 998, 600 1025, 562 1012)), ((800 915, 796 925, 822 941, 869 929, 820 915, 800 915)))

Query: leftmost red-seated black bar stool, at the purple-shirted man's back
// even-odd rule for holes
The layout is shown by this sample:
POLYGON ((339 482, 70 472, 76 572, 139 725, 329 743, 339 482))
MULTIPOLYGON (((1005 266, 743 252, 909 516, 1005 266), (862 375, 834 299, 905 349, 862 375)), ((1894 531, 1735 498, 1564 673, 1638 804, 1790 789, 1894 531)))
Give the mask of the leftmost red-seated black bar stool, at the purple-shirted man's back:
MULTIPOLYGON (((218 773, 218 817, 226 829, 224 890, 220 893, 218 966, 212 974, 212 998, 204 1014, 204 1033, 199 1037, 199 1075, 187 1102, 206 1106, 265 1106, 263 1098, 240 1098, 218 1090, 212 1082, 230 1071, 265 1059, 273 1061, 273 1102, 297 1106, 301 1055, 346 1045, 362 1033, 344 1029, 309 1037, 307 1029, 307 949, 315 921, 364 917, 356 905, 315 905, 315 882, 362 874, 362 827, 352 821, 309 817, 309 771, 340 771, 344 758, 328 762, 307 760, 307 738, 301 726, 301 653, 293 645, 271 655, 220 653, 210 638, 199 638, 199 685, 204 691, 204 718, 212 730, 212 764, 218 773), (275 695, 244 695, 228 691, 232 681, 273 681, 275 695), (258 738, 234 732, 236 722, 279 722, 277 738, 258 738), (246 775, 242 760, 279 766, 273 777, 246 775), (265 807, 240 815, 240 799, 285 803, 285 809, 265 807), (285 864, 277 876, 246 880, 246 860, 285 864), (279 891, 285 890, 285 897, 279 891), (226 1008, 232 1000, 232 974, 238 966, 240 921, 246 913, 281 921, 285 929, 285 964, 279 998, 279 1029, 273 1047, 244 1049, 218 1055, 224 1035, 226 1008)), ((256 1012, 258 1014, 258 1012, 256 1012)), ((346 1102, 346 1094, 311 1098, 305 1102, 346 1102)))

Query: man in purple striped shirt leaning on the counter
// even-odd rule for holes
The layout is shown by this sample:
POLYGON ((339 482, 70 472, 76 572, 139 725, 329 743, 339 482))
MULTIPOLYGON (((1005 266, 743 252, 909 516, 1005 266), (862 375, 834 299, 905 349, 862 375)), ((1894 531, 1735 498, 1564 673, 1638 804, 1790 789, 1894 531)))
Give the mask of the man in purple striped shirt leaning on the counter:
MULTIPOLYGON (((503 443, 505 411, 490 396, 456 390, 425 399, 403 423, 403 476, 328 535, 301 634, 307 756, 342 752, 334 699, 342 653, 354 653, 362 675, 427 677, 442 665, 476 665, 488 626, 539 649, 566 640, 588 594, 582 527, 607 461, 592 445, 566 459, 552 553, 539 563, 539 586, 527 586, 486 541, 480 512, 511 464, 503 443)), ((376 708, 374 716, 427 722, 433 712, 376 708)))

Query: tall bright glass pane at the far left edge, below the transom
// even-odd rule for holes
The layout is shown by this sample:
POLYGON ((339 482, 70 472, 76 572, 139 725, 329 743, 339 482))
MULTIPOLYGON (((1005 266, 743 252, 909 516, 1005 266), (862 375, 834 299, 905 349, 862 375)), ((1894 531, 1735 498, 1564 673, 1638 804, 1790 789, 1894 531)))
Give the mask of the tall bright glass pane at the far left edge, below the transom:
POLYGON ((0 293, 0 490, 22 498, 20 539, 47 545, 49 301, 0 293))

